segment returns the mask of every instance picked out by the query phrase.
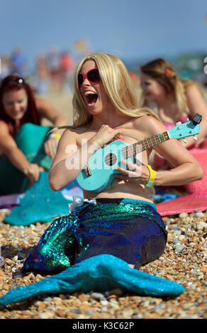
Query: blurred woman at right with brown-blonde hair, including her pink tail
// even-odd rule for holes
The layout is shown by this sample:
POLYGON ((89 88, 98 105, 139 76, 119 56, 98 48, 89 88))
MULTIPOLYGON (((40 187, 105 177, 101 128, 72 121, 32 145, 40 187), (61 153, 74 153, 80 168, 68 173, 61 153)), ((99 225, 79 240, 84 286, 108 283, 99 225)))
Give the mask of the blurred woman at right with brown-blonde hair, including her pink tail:
MULTIPOLYGON (((147 62, 140 67, 141 87, 143 91, 142 99, 145 105, 154 106, 162 123, 167 129, 173 128, 177 122, 184 123, 187 118, 194 118, 196 113, 202 115, 201 129, 197 135, 197 141, 193 137, 188 137, 187 142, 181 140, 191 154, 198 160, 204 169, 202 181, 187 184, 185 187, 189 193, 207 190, 207 105, 203 99, 201 89, 194 81, 179 79, 172 64, 163 58, 158 58, 147 62), (203 188, 204 186, 204 188, 203 188)), ((171 166, 166 159, 155 154, 153 167, 156 170, 169 169, 171 166)))

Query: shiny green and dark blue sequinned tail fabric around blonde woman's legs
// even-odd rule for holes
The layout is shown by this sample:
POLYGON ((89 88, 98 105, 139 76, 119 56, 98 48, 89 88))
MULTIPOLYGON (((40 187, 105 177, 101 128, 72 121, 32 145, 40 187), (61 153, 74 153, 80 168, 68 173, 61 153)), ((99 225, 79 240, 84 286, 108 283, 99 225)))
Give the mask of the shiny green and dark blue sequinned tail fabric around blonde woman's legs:
POLYGON ((23 272, 58 273, 99 254, 111 254, 139 268, 159 258, 166 240, 155 205, 126 198, 86 200, 45 230, 23 272))

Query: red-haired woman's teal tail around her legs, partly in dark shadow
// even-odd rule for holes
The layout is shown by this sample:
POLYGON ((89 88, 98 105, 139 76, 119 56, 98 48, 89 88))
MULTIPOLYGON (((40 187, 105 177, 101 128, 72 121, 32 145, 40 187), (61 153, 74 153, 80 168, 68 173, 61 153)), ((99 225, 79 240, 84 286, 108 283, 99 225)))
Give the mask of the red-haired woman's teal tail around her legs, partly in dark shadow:
MULTIPOLYGON (((24 124, 18 131, 15 141, 30 163, 50 169, 52 159, 45 154, 44 143, 48 140, 50 126, 24 124)), ((29 188, 28 178, 16 169, 6 155, 0 158, 0 195, 23 193, 29 188)))

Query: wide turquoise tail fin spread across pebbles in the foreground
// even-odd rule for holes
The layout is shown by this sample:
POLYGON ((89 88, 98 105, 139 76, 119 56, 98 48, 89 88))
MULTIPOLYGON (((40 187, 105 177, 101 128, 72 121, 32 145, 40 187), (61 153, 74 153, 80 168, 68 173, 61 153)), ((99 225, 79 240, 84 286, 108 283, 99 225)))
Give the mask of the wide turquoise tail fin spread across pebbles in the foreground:
POLYGON ((139 295, 178 296, 184 292, 179 283, 131 269, 122 259, 101 254, 85 259, 55 276, 10 290, 0 298, 0 306, 17 303, 38 295, 73 293, 76 290, 130 290, 139 295))

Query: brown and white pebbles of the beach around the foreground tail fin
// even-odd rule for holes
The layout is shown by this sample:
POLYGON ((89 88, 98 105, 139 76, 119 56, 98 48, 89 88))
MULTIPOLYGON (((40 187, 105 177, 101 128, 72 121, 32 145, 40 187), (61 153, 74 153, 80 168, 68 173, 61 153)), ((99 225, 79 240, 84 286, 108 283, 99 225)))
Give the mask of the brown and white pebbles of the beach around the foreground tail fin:
MULTIPOLYGON (((0 296, 18 286, 45 278, 21 273, 23 261, 38 243, 48 223, 13 226, 4 223, 1 213, 0 243, 4 271, 0 296)), ((176 298, 155 298, 114 289, 100 293, 82 290, 72 294, 44 295, 0 309, 0 319, 205 319, 207 317, 207 211, 164 217, 168 241, 164 254, 145 271, 176 281, 185 287, 176 298)))

